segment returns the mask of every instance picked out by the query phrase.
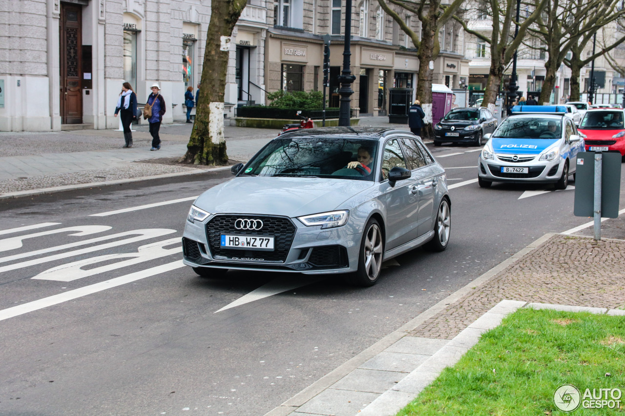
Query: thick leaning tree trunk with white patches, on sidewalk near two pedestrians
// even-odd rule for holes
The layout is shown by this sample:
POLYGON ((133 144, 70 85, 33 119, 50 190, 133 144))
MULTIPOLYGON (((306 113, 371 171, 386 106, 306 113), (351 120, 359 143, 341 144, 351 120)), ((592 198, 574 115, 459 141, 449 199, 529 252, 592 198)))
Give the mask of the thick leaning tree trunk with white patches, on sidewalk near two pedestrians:
POLYGON ((181 162, 196 165, 228 162, 223 114, 226 71, 230 36, 245 4, 245 0, 212 0, 196 118, 181 162))

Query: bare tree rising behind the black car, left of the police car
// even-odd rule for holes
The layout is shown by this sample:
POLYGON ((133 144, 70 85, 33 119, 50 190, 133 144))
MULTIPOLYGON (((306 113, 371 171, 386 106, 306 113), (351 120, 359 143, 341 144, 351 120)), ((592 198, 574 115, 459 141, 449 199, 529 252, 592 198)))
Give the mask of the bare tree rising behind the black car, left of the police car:
POLYGON ((499 94, 501 79, 504 76, 506 67, 512 61, 512 57, 514 57, 514 51, 521 46, 527 34, 527 29, 536 21, 547 1, 549 0, 540 0, 534 12, 524 17, 522 22, 519 18, 519 32, 516 37, 513 36, 513 25, 516 22, 516 1, 514 0, 487 0, 482 4, 482 9, 492 18, 491 37, 469 29, 469 25, 464 19, 454 16, 454 19, 462 24, 465 32, 481 39, 491 47, 491 69, 489 70, 484 100, 482 101, 482 103, 488 105, 491 111, 495 109, 495 101, 499 94))

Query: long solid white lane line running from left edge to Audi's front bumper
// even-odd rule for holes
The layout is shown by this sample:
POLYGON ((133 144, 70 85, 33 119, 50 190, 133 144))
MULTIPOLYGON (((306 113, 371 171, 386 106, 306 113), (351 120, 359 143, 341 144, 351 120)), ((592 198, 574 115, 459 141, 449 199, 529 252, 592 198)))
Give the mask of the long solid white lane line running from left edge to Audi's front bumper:
POLYGON ((114 279, 106 280, 104 282, 88 285, 79 289, 68 290, 67 292, 58 295, 44 297, 43 299, 27 302, 26 304, 3 309, 0 310, 0 320, 27 314, 28 312, 47 308, 52 305, 58 305, 63 302, 67 302, 68 300, 78 299, 79 297, 91 295, 96 292, 101 292, 102 290, 111 289, 112 287, 124 285, 130 282, 135 282, 136 280, 144 279, 153 275, 161 274, 164 272, 171 272, 171 270, 179 269, 180 267, 183 267, 183 265, 183 260, 176 260, 175 262, 171 262, 168 264, 158 265, 156 267, 151 267, 150 269, 140 270, 139 272, 116 277, 114 279))

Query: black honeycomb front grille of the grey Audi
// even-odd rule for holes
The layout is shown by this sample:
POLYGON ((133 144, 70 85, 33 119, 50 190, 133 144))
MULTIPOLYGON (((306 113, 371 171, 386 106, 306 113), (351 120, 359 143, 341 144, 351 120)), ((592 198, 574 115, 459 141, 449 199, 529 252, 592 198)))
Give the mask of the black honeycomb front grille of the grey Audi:
POLYGON ((216 260, 251 259, 252 261, 284 263, 291 249, 295 231, 295 225, 287 217, 269 215, 216 215, 206 224, 208 247, 212 257, 216 260), (234 222, 239 218, 262 220, 262 229, 237 230, 234 228, 234 222), (221 247, 222 234, 274 237, 274 250, 224 249, 221 247))

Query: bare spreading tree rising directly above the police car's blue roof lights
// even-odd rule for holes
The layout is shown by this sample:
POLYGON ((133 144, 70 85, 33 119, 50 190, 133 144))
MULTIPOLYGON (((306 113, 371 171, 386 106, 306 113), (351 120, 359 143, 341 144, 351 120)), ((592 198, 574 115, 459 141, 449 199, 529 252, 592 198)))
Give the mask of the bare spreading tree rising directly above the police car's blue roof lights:
MULTIPOLYGON (((530 0, 535 7, 541 0, 530 0)), ((610 2, 610 1, 608 1, 610 2)), ((540 39, 547 51, 545 79, 539 102, 548 102, 556 85, 556 71, 567 52, 591 31, 606 11, 606 0, 548 0, 529 32, 540 39)))

